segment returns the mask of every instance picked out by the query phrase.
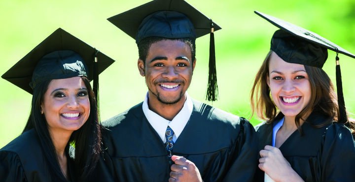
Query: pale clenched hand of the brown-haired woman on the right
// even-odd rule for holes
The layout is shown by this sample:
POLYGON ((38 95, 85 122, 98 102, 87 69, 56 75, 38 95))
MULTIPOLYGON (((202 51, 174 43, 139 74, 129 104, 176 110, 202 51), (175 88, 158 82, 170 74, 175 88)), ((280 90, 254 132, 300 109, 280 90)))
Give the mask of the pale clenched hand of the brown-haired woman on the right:
POLYGON ((259 168, 275 182, 304 182, 278 148, 267 145, 259 153, 259 168))

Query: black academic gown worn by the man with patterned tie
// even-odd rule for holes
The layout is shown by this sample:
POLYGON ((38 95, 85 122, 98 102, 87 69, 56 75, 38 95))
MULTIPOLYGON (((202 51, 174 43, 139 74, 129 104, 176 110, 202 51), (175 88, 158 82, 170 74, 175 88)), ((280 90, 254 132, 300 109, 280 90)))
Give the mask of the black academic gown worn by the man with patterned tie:
MULTIPOLYGON (((103 122, 105 152, 93 181, 168 182, 170 166, 159 135, 142 111, 142 103, 103 122)), ((204 182, 249 182, 257 166, 257 141, 252 125, 204 103, 193 101, 189 121, 173 155, 184 156, 204 182)))

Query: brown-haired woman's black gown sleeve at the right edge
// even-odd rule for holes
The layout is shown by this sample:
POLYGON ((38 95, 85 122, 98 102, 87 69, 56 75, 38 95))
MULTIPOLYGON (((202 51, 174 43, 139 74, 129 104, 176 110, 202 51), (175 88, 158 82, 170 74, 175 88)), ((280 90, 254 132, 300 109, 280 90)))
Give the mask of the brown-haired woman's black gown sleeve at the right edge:
POLYGON ((350 130, 333 123, 326 130, 320 162, 321 182, 353 182, 355 144, 350 130))

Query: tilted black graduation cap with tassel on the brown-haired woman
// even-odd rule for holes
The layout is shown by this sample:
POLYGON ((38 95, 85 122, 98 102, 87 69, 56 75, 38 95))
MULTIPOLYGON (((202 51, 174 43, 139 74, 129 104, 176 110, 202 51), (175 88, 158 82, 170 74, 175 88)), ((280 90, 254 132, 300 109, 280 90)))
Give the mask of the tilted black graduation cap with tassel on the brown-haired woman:
POLYGON ((338 122, 347 123, 338 54, 341 53, 351 58, 355 58, 355 55, 315 32, 258 11, 254 12, 281 29, 277 30, 271 39, 271 50, 286 62, 321 68, 327 59, 327 50, 336 52, 336 84, 340 112, 338 122))

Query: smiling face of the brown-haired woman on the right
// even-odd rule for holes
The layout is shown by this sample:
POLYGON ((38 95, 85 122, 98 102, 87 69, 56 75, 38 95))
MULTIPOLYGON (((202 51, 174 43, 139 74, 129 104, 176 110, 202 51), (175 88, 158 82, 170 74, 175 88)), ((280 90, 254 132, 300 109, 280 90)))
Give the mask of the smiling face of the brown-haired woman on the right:
POLYGON ((304 65, 285 62, 274 52, 267 82, 275 105, 285 117, 295 117, 311 99, 311 84, 304 65))

